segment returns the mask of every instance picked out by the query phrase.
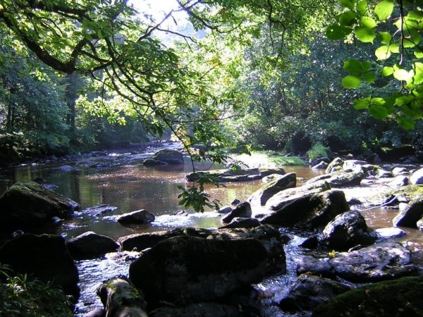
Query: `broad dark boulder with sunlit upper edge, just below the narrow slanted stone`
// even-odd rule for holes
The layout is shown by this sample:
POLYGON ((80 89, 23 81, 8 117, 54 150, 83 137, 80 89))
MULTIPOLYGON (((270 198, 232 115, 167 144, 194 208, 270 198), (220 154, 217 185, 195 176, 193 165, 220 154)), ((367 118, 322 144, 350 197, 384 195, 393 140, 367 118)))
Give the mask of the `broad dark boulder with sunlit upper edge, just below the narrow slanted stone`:
POLYGON ((350 207, 340 190, 328 190, 300 196, 274 213, 264 216, 261 223, 287 227, 319 228, 350 207))

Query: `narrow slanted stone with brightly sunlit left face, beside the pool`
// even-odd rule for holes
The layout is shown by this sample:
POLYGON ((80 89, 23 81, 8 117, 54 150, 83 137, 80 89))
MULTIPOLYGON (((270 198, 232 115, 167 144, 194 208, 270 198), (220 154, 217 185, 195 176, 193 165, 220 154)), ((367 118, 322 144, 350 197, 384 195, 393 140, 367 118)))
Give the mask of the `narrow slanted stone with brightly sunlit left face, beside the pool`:
POLYGON ((277 192, 281 192, 284 189, 293 188, 296 186, 297 175, 295 173, 288 173, 283 175, 278 180, 274 180, 273 182, 269 182, 266 185, 260 187, 260 189, 258 189, 247 198, 247 201, 249 201, 252 206, 264 206, 266 201, 268 201, 269 198, 277 192))

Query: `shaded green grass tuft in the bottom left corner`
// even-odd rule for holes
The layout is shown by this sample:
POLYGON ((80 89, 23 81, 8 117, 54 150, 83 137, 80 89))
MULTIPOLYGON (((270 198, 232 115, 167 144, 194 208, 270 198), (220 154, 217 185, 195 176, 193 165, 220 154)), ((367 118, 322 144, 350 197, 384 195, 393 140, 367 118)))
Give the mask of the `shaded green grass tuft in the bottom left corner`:
POLYGON ((0 266, 0 316, 71 317, 70 307, 58 288, 0 266))

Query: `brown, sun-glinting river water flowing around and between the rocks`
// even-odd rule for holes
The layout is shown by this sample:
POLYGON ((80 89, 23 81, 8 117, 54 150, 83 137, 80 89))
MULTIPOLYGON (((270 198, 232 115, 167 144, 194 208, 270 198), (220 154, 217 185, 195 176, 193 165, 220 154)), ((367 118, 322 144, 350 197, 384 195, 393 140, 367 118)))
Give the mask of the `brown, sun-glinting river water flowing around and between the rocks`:
MULTIPOLYGON (((166 148, 176 148, 178 144, 161 144, 166 148)), ((54 163, 29 164, 17 166, 8 170, 0 170, 0 194, 13 182, 42 178, 58 185, 57 192, 69 197, 85 209, 97 204, 110 204, 117 209, 103 216, 92 216, 86 213, 76 213, 71 220, 66 220, 63 225, 54 228, 43 228, 51 233, 63 235, 66 238, 75 237, 86 231, 94 231, 100 235, 114 238, 123 237, 133 233, 150 232, 155 230, 168 230, 178 227, 217 228, 220 225, 219 216, 214 211, 194 213, 189 216, 171 216, 171 213, 181 209, 178 206, 178 185, 185 185, 185 173, 191 171, 188 159, 183 166, 161 166, 159 168, 142 166, 142 160, 151 156, 158 147, 152 147, 142 154, 130 154, 125 151, 110 153, 107 156, 89 157, 73 161, 54 163), (101 163, 102 167, 90 167, 95 163, 101 163), (68 165, 78 170, 65 172, 61 166, 68 165), (116 222, 116 216, 138 209, 147 209, 154 213, 156 220, 150 225, 136 227, 124 227, 116 222)), ((222 168, 222 166, 197 166, 198 168, 222 168)), ((324 173, 321 170, 312 170, 303 166, 286 166, 286 172, 295 172, 302 181, 324 173)), ((246 199, 255 190, 261 187, 261 180, 252 182, 227 183, 225 187, 208 187, 207 191, 212 199, 219 199, 223 206, 230 204, 233 199, 246 199)), ((300 184, 301 185, 301 181, 300 184)), ((369 185, 367 187, 355 187, 343 189, 347 198, 357 197, 366 201, 377 192, 385 189, 384 185, 369 185)), ((360 209, 366 209, 360 205, 360 209)), ((386 209, 372 209, 363 211, 367 225, 370 228, 391 227, 392 218, 398 211, 386 209)), ((402 228, 407 236, 398 239, 407 241, 412 249, 422 249, 423 234, 419 230, 402 228)), ((295 260, 304 254, 298 247, 306 237, 302 232, 287 230, 284 232, 292 237, 286 246, 288 273, 274 276, 255 285, 255 290, 262 298, 262 313, 264 316, 289 316, 281 315, 276 305, 287 290, 287 286, 295 280, 295 260)), ((90 309, 102 306, 95 294, 100 282, 116 275, 128 275, 130 261, 137 256, 136 253, 108 254, 104 259, 78 261, 80 272, 81 297, 77 304, 76 313, 82 313, 90 309)), ((298 315, 296 315, 298 316, 298 315)))

